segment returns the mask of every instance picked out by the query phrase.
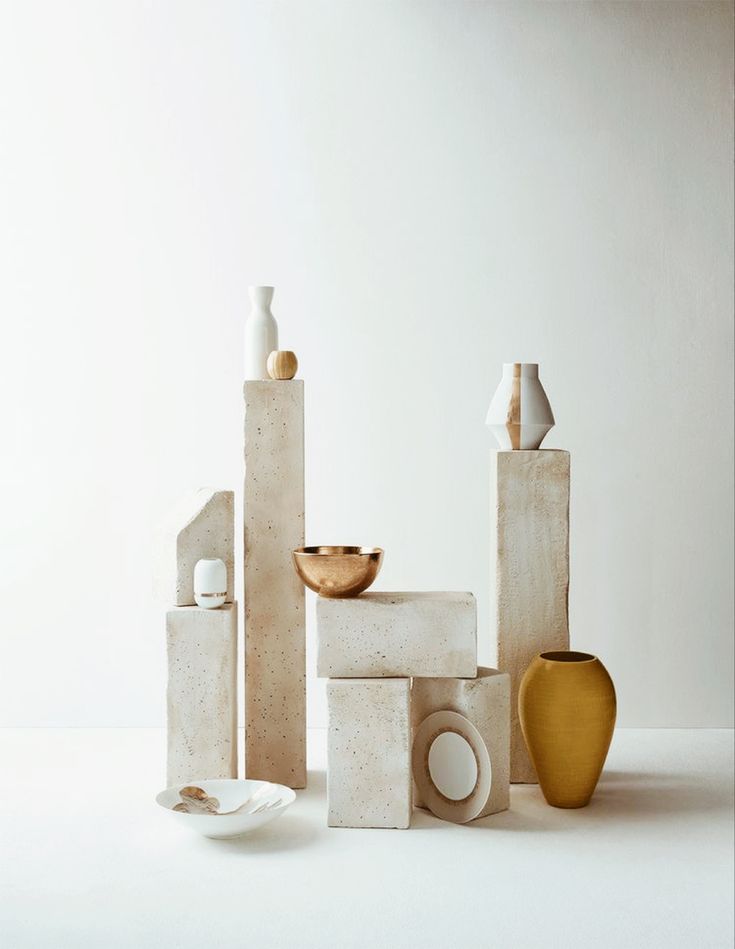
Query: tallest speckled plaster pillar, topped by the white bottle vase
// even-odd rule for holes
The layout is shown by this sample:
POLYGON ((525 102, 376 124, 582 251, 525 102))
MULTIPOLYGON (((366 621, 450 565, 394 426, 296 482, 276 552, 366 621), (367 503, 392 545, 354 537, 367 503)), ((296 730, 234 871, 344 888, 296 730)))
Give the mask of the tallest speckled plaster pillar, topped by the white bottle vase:
POLYGON ((306 785, 304 384, 245 383, 245 773, 306 785))

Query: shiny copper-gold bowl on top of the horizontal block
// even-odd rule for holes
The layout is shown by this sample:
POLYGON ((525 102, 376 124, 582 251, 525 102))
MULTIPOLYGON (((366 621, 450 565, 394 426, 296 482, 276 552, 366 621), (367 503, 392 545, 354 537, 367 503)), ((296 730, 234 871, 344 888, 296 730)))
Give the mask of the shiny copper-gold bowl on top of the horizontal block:
POLYGON ((299 547, 292 551, 296 572, 319 596, 357 596, 380 572, 380 547, 299 547))

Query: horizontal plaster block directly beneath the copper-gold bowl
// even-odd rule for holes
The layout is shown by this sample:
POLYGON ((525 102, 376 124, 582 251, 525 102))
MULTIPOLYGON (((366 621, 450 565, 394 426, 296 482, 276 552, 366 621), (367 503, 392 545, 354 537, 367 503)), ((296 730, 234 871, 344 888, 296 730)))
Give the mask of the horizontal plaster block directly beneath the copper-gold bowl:
POLYGON ((319 597, 316 614, 319 676, 477 673, 477 605, 471 593, 319 597))

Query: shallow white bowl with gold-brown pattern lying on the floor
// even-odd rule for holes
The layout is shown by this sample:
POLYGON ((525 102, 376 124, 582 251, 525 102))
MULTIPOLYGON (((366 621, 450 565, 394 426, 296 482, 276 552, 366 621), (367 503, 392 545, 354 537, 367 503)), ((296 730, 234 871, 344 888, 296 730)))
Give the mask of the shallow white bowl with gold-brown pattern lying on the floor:
POLYGON ((156 797, 156 803, 168 811, 174 820, 183 827, 188 827, 205 837, 226 838, 240 837, 249 834, 258 827, 270 823, 293 804, 296 794, 291 788, 282 784, 271 784, 270 781, 238 781, 236 778, 213 778, 206 781, 188 781, 187 784, 202 788, 211 797, 219 801, 220 811, 234 811, 244 804, 248 798, 257 795, 251 807, 246 807, 239 814, 184 814, 173 810, 174 805, 181 801, 179 791, 185 784, 177 784, 166 788, 156 797), (277 807, 269 807, 259 814, 248 814, 251 808, 259 807, 268 801, 281 801, 277 807))

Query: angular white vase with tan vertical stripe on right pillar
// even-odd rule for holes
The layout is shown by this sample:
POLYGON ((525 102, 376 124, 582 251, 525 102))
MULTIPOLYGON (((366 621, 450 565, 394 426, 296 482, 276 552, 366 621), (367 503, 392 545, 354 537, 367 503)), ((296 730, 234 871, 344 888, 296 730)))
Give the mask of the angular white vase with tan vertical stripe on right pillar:
POLYGON ((554 413, 538 377, 538 363, 503 363, 503 378, 487 410, 488 425, 504 449, 534 449, 554 427, 554 413))

